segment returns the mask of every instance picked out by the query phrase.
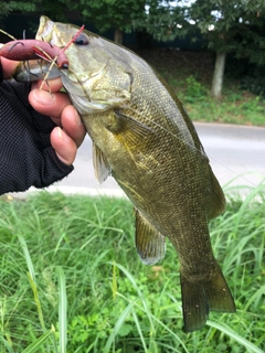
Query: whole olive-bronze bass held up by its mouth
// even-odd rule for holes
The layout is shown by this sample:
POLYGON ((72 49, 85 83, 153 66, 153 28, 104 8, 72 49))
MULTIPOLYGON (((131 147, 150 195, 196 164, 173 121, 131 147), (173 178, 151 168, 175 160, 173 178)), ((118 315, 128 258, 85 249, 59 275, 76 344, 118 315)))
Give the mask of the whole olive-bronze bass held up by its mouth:
MULTIPOLYGON (((63 49, 77 32, 41 17, 36 40, 63 49)), ((234 312, 208 228, 225 199, 181 103, 142 58, 88 31, 65 54, 60 75, 93 140, 96 178, 113 175, 132 202, 140 259, 162 259, 166 236, 178 253, 184 330, 211 310, 234 312)))

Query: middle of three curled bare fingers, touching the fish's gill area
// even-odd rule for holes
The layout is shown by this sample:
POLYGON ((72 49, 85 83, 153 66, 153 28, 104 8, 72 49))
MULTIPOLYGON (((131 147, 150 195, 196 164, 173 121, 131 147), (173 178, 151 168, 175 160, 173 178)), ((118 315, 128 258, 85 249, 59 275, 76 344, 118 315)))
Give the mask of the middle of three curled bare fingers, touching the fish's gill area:
POLYGON ((61 119, 64 131, 80 147, 85 138, 86 130, 76 109, 73 106, 65 107, 61 119))

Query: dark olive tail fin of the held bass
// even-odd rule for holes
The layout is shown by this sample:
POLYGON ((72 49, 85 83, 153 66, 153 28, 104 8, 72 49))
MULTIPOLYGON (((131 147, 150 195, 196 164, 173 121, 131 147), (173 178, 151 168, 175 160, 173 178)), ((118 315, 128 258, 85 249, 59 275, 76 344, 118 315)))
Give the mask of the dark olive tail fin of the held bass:
POLYGON ((183 274, 180 276, 184 331, 200 330, 206 322, 209 312, 234 312, 235 304, 218 263, 208 278, 183 274))

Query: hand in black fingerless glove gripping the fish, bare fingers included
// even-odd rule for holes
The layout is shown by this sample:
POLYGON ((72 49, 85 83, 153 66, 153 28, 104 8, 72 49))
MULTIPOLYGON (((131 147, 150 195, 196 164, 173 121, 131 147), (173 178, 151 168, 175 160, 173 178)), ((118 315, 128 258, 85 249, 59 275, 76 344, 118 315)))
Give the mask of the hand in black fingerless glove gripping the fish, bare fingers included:
MULTIPOLYGON (((1 65, 7 79, 18 62, 1 58, 1 65)), ((44 188, 63 179, 73 170, 71 164, 84 139, 75 108, 67 95, 59 92, 61 81, 49 82, 43 90, 39 85, 0 84, 0 194, 32 185, 44 188)))

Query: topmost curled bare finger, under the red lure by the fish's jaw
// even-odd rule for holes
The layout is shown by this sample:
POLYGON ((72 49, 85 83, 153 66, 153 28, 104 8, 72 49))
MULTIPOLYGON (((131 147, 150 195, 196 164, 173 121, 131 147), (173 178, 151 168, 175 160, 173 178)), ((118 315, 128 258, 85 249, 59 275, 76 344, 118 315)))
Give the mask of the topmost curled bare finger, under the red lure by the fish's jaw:
POLYGON ((65 93, 50 94, 38 88, 30 92, 29 101, 36 111, 54 118, 55 124, 59 124, 59 117, 61 117, 63 109, 71 105, 70 98, 65 93))

